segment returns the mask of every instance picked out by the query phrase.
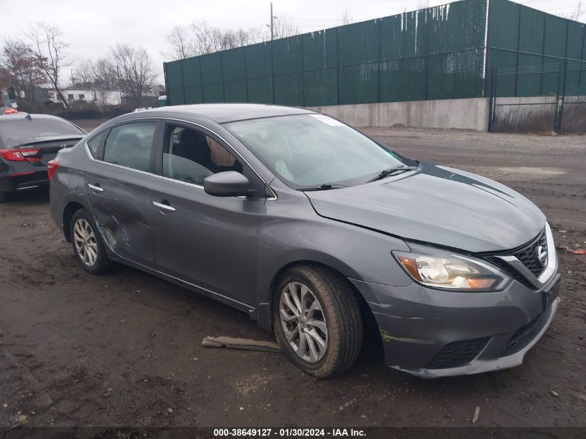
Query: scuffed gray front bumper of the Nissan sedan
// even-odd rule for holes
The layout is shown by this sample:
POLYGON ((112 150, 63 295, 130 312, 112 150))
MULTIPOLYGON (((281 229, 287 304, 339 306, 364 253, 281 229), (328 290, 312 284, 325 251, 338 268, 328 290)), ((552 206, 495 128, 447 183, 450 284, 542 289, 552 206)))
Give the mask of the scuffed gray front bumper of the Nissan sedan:
POLYGON ((538 291, 514 280, 494 293, 350 280, 377 320, 385 365, 424 378, 520 365, 551 325, 560 303, 557 271, 538 291))

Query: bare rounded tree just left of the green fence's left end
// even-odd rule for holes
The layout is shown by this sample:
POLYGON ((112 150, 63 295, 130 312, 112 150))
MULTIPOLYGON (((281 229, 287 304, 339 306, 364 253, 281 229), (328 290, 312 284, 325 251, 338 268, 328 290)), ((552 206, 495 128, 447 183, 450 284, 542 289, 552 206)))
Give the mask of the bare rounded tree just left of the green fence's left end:
POLYGON ((117 44, 110 50, 110 62, 116 66, 119 86, 140 107, 144 96, 155 83, 153 62, 144 49, 128 44, 117 44))

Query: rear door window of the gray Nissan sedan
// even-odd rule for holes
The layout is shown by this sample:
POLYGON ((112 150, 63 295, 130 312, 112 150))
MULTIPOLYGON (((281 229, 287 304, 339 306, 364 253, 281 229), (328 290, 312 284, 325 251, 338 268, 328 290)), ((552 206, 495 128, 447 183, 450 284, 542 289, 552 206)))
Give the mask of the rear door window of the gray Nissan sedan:
POLYGON ((148 171, 155 125, 155 122, 138 122, 112 128, 104 146, 104 162, 148 171))

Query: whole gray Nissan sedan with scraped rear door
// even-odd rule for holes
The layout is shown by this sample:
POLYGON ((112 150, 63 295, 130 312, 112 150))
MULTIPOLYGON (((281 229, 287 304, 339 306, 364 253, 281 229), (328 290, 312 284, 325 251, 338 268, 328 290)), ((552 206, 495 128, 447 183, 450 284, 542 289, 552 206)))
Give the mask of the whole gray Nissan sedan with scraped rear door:
POLYGON ((509 368, 558 309, 533 203, 310 110, 126 114, 60 151, 49 176, 51 214, 85 270, 117 261, 240 309, 316 377, 350 368, 370 324, 389 368, 509 368))

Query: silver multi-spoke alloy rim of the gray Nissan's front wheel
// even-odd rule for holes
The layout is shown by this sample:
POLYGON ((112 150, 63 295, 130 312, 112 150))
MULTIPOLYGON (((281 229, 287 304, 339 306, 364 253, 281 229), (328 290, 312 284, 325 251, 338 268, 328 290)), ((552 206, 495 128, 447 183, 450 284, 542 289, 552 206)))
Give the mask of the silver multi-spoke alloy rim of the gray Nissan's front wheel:
POLYGON ((295 354, 317 363, 327 351, 327 321, 321 304, 301 282, 289 282, 281 292, 279 317, 295 354))

